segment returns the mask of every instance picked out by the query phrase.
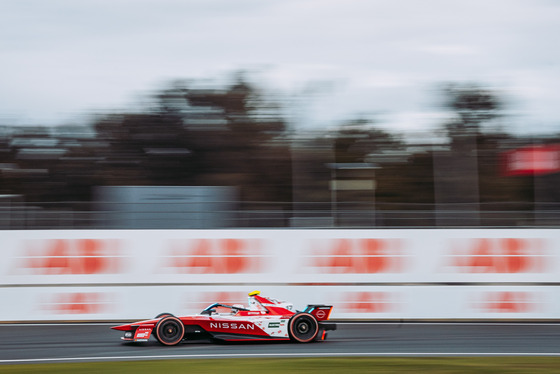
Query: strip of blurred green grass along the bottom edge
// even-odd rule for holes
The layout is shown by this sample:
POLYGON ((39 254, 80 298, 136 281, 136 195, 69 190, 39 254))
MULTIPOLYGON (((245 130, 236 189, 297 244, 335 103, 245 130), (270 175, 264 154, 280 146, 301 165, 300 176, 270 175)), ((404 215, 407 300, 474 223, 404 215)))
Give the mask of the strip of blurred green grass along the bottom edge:
POLYGON ((0 365, 0 373, 560 373, 558 357, 192 359, 0 365))

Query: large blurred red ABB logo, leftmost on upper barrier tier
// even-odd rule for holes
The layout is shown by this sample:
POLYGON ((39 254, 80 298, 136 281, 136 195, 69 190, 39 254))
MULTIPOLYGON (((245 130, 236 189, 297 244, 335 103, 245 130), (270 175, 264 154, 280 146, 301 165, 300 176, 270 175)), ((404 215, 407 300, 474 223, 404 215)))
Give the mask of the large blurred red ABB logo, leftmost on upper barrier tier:
POLYGON ((20 268, 44 274, 115 274, 120 269, 119 241, 50 239, 26 243, 20 268))

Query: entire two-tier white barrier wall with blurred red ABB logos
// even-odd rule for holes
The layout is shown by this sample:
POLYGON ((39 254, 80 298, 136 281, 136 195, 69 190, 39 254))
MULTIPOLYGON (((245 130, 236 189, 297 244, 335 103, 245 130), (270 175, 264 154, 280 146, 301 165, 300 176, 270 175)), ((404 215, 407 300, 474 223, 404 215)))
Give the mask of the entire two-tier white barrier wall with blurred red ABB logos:
POLYGON ((558 230, 2 231, 1 321, 194 313, 263 294, 332 318, 556 319, 558 230))

